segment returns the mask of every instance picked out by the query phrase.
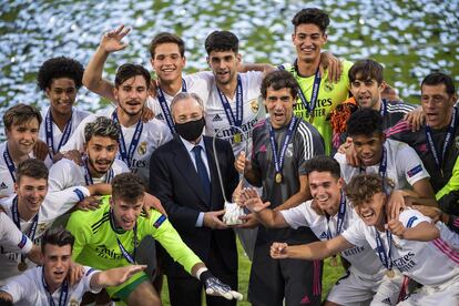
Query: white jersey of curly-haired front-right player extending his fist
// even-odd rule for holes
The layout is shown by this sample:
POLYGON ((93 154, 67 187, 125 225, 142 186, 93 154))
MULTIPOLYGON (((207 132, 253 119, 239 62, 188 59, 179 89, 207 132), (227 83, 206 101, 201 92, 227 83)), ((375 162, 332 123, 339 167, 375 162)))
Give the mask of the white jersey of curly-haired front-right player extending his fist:
MULTIPOLYGON (((430 218, 408 208, 401 212, 399 221, 406 227, 415 227, 421 222, 430 222, 430 218)), ((359 220, 343 236, 354 245, 367 241, 377 254, 376 231, 359 220)), ((387 235, 380 232, 379 235, 387 253, 387 235)), ((448 242, 450 235, 451 232, 446 226, 440 228, 440 237, 430 242, 407 241, 392 235, 394 267, 422 285, 437 286, 453 279, 459 274, 459 252, 448 242)))

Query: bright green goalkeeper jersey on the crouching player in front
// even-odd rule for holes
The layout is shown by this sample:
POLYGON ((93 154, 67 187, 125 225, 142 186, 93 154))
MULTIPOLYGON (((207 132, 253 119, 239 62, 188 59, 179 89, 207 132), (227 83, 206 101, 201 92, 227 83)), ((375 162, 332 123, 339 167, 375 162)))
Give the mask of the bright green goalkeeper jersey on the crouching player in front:
MULTIPOLYGON (((72 258, 82 265, 96 269, 126 266, 118 239, 129 254, 134 254, 134 231, 120 231, 113 225, 109 200, 103 196, 96 211, 76 211, 70 216, 67 228, 75 237, 72 258), (118 239, 116 239, 118 237, 118 239)), ((137 218, 137 244, 146 235, 153 236, 191 274, 192 267, 202 261, 182 241, 167 217, 152 210, 150 218, 143 214, 137 218)))

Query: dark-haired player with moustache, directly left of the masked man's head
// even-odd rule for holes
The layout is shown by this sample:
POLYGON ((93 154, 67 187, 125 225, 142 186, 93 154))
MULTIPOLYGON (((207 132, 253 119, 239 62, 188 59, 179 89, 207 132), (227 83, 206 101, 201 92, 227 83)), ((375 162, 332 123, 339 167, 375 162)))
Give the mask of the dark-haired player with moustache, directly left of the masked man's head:
POLYGON ((149 95, 150 80, 150 73, 143 67, 130 63, 121 65, 116 71, 115 88, 112 93, 118 101, 118 106, 114 110, 109 108, 98 114, 86 116, 61 151, 83 151, 86 123, 94 122, 98 116, 112 119, 121 126, 118 139, 118 159, 147 183, 151 154, 172 137, 163 122, 152 119, 144 123, 141 120, 149 95))

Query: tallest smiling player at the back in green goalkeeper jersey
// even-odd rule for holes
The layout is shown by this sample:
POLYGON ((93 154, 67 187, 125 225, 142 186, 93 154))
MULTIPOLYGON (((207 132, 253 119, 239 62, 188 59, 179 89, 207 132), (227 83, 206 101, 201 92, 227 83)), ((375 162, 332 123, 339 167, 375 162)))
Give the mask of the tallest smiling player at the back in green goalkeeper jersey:
POLYGON ((282 68, 289 71, 299 84, 295 115, 310 122, 324 137, 325 152, 332 152, 332 126, 328 115, 348 98, 348 71, 351 63, 343 61, 343 72, 337 83, 328 80, 328 70, 320 76, 320 52, 327 43, 328 14, 316 8, 303 9, 292 20, 292 41, 297 59, 282 68))

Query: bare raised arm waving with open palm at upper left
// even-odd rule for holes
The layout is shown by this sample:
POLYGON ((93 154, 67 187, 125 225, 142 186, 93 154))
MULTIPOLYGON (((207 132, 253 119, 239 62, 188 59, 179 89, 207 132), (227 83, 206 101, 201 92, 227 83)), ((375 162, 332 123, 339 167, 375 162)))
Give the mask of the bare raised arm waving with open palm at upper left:
POLYGON ((116 30, 104 33, 83 74, 83 84, 90 91, 113 102, 116 102, 113 95, 114 86, 110 81, 102 79, 103 65, 111 52, 116 52, 128 47, 128 43, 121 40, 130 31, 130 28, 124 28, 122 24, 116 30))

